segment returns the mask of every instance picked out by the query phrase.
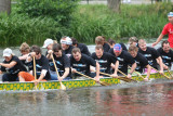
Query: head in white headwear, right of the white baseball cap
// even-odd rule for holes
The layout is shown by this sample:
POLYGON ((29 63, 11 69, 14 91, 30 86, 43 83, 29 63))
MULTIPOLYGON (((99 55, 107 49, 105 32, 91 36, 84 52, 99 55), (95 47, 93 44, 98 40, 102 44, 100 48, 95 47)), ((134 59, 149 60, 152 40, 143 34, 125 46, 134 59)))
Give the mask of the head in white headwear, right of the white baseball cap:
POLYGON ((67 50, 69 48, 70 44, 72 44, 71 38, 69 37, 63 37, 61 39, 61 44, 62 44, 62 49, 63 50, 67 50))

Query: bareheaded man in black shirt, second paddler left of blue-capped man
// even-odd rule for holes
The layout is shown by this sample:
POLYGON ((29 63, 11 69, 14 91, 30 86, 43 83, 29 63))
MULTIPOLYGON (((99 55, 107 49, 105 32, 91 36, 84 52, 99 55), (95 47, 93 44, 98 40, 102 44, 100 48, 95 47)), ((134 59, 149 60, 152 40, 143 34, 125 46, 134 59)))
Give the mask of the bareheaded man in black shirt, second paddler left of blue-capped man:
MULTIPOLYGON (((70 65, 71 65, 71 72, 75 74, 76 72, 79 72, 81 74, 91 76, 90 73, 90 66, 96 67, 96 81, 99 80, 99 64, 95 62, 92 57, 81 54, 81 51, 79 48, 72 49, 72 55, 70 56, 70 65)), ((79 76, 79 75, 76 75, 79 76)))

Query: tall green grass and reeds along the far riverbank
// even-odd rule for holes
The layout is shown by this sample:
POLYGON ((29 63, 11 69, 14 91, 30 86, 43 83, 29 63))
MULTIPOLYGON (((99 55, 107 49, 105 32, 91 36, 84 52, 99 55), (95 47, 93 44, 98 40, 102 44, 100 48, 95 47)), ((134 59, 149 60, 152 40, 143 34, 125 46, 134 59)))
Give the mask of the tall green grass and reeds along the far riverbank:
POLYGON ((10 16, 0 15, 0 46, 42 44, 45 38, 59 40, 62 36, 77 38, 80 42, 93 43, 98 35, 119 40, 123 37, 156 38, 168 23, 167 13, 171 3, 121 5, 116 14, 106 5, 79 5, 68 27, 50 17, 30 18, 17 14, 13 7, 10 16))

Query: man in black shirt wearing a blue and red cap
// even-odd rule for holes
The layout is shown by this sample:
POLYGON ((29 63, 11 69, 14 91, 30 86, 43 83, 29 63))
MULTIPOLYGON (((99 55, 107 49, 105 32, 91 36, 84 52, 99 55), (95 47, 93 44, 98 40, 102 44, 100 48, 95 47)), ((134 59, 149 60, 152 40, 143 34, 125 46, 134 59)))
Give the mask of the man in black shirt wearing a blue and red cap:
POLYGON ((128 78, 131 78, 132 77, 132 73, 136 68, 136 63, 135 63, 134 59, 132 57, 132 55, 129 52, 122 50, 120 43, 116 43, 115 44, 115 47, 114 47, 114 55, 119 61, 118 69, 121 70, 122 73, 128 74, 128 65, 130 65, 130 64, 132 65, 131 70, 128 74, 128 78))

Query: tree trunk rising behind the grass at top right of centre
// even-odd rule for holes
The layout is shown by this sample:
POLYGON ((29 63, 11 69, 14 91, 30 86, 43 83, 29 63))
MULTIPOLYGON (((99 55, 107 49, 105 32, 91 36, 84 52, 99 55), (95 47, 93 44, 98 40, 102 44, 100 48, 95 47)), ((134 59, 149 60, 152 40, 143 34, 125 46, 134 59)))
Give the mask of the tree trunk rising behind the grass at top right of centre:
POLYGON ((107 5, 114 12, 120 12, 121 0, 107 0, 107 5))

